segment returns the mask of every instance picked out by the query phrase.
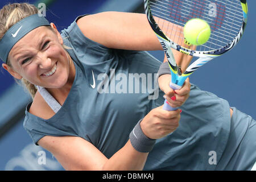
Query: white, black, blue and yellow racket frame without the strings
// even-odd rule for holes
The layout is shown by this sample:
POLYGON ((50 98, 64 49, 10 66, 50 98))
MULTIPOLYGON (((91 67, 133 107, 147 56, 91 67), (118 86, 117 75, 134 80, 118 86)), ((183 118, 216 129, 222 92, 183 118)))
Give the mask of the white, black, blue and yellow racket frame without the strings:
MULTIPOLYGON (((170 70, 171 70, 171 83, 170 87, 174 90, 180 89, 184 81, 189 77, 193 72, 196 71, 196 69, 200 68, 205 63, 208 63, 210 60, 212 60, 215 57, 221 56, 224 53, 230 51, 234 46, 237 45, 239 40, 241 39, 243 32, 245 30, 246 24, 247 24, 247 13, 248 13, 248 6, 246 0, 240 0, 242 11, 243 11, 243 22, 240 29, 240 32, 238 32, 237 36, 230 42, 228 45, 221 47, 219 49, 214 49, 210 51, 196 51, 192 49, 188 49, 182 46, 179 46, 175 42, 173 42, 171 39, 169 39, 164 32, 159 28, 158 24, 155 22, 155 19, 153 15, 151 14, 150 10, 150 0, 144 0, 144 10, 147 15, 148 22, 150 23, 150 26, 152 30, 154 30, 156 36, 158 37, 158 40, 163 48, 163 51, 167 57, 170 70), (186 55, 199 57, 197 60, 195 60, 191 65, 188 66, 188 68, 185 70, 184 73, 181 73, 181 75, 178 75, 178 67, 174 58, 174 54, 172 53, 172 50, 176 49, 177 51, 184 53, 186 55)), ((165 110, 176 110, 177 108, 172 108, 170 105, 164 102, 164 109, 165 110)))

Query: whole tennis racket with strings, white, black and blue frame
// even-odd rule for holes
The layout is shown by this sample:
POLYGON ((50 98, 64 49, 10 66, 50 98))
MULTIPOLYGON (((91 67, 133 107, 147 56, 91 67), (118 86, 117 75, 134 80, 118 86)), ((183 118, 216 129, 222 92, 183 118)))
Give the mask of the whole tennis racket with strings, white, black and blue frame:
MULTIPOLYGON (((171 69, 172 89, 180 89, 197 68, 232 49, 241 39, 247 23, 246 0, 144 0, 148 22, 158 37, 171 69), (183 27, 188 20, 200 18, 211 29, 201 46, 186 46, 183 27), (181 73, 172 50, 198 57, 181 73)), ((176 110, 164 102, 164 110, 176 110)))

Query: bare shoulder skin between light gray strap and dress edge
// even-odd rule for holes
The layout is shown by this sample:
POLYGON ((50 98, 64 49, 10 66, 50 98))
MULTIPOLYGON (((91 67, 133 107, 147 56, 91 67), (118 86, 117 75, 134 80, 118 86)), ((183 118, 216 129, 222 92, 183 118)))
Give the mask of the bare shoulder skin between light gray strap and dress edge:
POLYGON ((43 119, 49 119, 55 114, 39 92, 36 92, 28 112, 43 119))

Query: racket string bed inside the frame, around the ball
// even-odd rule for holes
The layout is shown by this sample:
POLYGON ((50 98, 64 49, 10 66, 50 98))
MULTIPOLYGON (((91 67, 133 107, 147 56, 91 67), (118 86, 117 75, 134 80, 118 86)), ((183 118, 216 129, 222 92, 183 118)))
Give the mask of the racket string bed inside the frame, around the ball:
POLYGON ((152 0, 150 9, 164 34, 183 47, 185 23, 192 18, 207 21, 212 33, 207 43, 192 48, 197 51, 220 49, 230 44, 240 32, 243 21, 239 0, 152 0))

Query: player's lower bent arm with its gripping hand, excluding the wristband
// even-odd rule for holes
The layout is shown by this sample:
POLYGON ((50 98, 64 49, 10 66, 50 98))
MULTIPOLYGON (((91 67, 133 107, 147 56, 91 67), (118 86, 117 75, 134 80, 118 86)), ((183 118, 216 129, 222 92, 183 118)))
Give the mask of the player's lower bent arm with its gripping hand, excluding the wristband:
MULTIPOLYGON (((166 111, 162 107, 152 109, 140 123, 148 138, 165 137, 179 126, 180 110, 166 111)), ((109 159, 80 137, 46 136, 38 144, 51 152, 67 170, 142 170, 148 155, 148 152, 135 150, 130 140, 109 159)))

